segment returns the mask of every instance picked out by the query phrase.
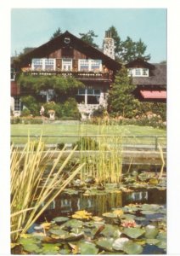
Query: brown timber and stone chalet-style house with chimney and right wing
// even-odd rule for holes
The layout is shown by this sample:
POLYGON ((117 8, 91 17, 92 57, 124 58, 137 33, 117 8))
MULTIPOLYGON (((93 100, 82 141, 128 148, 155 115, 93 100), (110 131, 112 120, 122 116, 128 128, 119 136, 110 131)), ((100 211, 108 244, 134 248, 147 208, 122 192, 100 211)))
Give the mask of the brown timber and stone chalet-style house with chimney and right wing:
MULTIPOLYGON (((115 61, 114 40, 106 32, 103 52, 93 48, 70 32, 53 38, 46 44, 22 55, 19 67, 15 71, 33 76, 74 77, 85 85, 76 92, 78 109, 82 118, 91 116, 99 106, 106 108, 108 90, 113 83, 115 73, 121 69, 121 63, 115 61)), ((141 101, 165 101, 166 69, 162 65, 153 65, 137 59, 127 64, 132 81, 137 85, 135 96, 141 101)), ((20 90, 15 82, 14 71, 11 73, 11 109, 14 115, 20 115, 22 108, 20 90)), ((47 102, 54 96, 52 89, 40 92, 47 102)))

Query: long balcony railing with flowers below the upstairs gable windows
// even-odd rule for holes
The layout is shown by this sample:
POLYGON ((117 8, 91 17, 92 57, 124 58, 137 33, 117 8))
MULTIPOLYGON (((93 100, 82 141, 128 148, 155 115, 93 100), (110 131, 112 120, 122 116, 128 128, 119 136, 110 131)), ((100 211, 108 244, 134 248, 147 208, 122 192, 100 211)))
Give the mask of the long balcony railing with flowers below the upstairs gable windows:
POLYGON ((110 73, 93 73, 93 72, 72 72, 72 71, 27 71, 24 72, 25 75, 33 76, 53 76, 60 75, 63 77, 73 77, 75 79, 89 80, 89 79, 99 79, 99 80, 111 80, 112 75, 110 73))

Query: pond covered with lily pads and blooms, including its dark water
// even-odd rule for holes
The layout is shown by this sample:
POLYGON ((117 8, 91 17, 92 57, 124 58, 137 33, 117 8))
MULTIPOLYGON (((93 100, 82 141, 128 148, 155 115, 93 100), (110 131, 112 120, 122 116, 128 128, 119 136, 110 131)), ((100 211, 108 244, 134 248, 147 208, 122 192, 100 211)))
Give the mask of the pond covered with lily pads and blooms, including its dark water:
POLYGON ((122 183, 75 180, 12 248, 13 254, 166 254, 166 172, 122 183))

